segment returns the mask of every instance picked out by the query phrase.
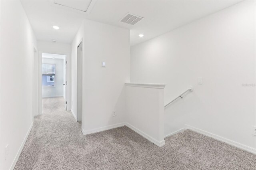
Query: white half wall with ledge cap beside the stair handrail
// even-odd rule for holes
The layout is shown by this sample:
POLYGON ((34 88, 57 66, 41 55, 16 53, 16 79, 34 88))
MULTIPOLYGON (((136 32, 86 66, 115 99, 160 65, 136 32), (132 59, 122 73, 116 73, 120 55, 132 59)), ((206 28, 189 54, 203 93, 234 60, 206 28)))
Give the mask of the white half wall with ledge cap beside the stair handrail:
POLYGON ((164 87, 126 83, 126 125, 157 146, 165 144, 164 87))

